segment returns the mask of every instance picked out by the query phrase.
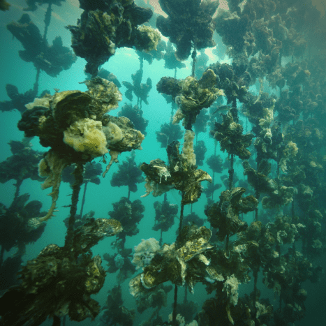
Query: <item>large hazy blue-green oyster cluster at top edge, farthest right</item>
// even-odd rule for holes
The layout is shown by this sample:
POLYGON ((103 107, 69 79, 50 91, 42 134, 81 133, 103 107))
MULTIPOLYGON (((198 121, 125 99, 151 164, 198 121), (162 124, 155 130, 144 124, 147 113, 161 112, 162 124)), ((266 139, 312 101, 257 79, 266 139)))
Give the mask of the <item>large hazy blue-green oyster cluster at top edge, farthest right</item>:
MULTIPOLYGON (((306 13, 288 15, 283 3, 250 1, 240 8, 238 1, 230 10, 220 10, 216 31, 223 43, 230 46, 232 54, 244 53, 251 57, 249 72, 253 79, 272 73, 279 63, 279 56, 300 57, 306 49, 306 40, 297 31, 298 20, 302 24, 306 13), (303 16, 303 17, 302 17, 303 16), (259 54, 258 56, 255 54, 259 54)), ((291 12, 291 10, 290 10, 291 12)))

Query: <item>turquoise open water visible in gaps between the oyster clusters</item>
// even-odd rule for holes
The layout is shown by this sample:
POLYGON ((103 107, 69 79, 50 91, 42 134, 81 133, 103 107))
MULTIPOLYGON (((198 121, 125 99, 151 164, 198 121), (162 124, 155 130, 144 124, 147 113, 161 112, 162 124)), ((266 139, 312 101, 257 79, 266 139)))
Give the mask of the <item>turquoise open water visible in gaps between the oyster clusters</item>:
MULTIPOLYGON (((136 1, 137 2, 137 1, 136 1)), ((0 36, 1 36, 1 48, 0 48, 0 101, 8 101, 9 98, 6 94, 6 84, 15 84, 20 91, 20 93, 24 93, 33 87, 35 77, 36 77, 36 69, 33 64, 27 63, 20 59, 18 51, 22 50, 23 47, 20 42, 16 39, 13 39, 13 36, 6 29, 6 25, 12 21, 17 21, 20 19, 21 15, 24 13, 22 8, 25 8, 26 4, 24 1, 15 0, 12 1, 12 6, 9 11, 2 12, 0 11, 0 36)), ((29 13, 31 20, 36 24, 36 26, 40 29, 40 32, 43 33, 44 29, 44 15, 45 15, 46 6, 40 6, 33 13, 29 13)), ((82 10, 78 8, 77 0, 67 1, 63 3, 62 6, 53 6, 52 8, 52 17, 51 24, 47 33, 47 40, 49 43, 52 43, 52 40, 56 36, 61 36, 63 43, 65 46, 71 45, 71 33, 68 29, 65 29, 68 24, 76 24, 77 19, 80 17, 82 10)), ((216 35, 216 39, 221 40, 216 35)), ((166 39, 165 39, 166 40, 166 39)), ((225 56, 221 55, 221 57, 216 56, 216 54, 212 53, 212 50, 206 50, 207 55, 209 56, 209 64, 213 64, 216 61, 220 63, 228 63, 230 64, 232 60, 225 56)), ((282 61, 282 65, 285 65, 290 59, 285 58, 282 61)), ((135 151, 135 162, 137 164, 141 164, 143 162, 149 163, 149 161, 161 158, 163 161, 168 161, 165 149, 160 147, 160 144, 156 141, 156 131, 158 131, 161 127, 161 124, 168 122, 170 120, 170 110, 171 106, 168 105, 161 96, 156 91, 156 84, 161 79, 162 76, 174 76, 174 71, 165 69, 163 60, 157 61, 154 59, 154 62, 149 65, 147 61, 144 61, 143 68, 143 77, 142 82, 147 80, 147 77, 151 77, 153 87, 149 92, 149 105, 145 103, 142 104, 142 110, 144 112, 143 117, 149 120, 149 124, 147 126, 147 136, 145 140, 142 142, 142 150, 135 151)), ((66 90, 80 90, 86 91, 87 87, 84 84, 80 84, 85 79, 84 75, 84 66, 86 61, 77 57, 77 61, 71 66, 68 71, 62 71, 57 77, 50 77, 43 71, 40 73, 39 80, 39 94, 45 90, 49 89, 51 94, 54 94, 54 89, 59 89, 59 91, 66 90)), ((184 79, 188 75, 191 75, 191 59, 184 61, 186 64, 186 68, 178 69, 177 78, 184 79)), ((102 68, 107 69, 111 73, 117 76, 119 82, 131 80, 131 73, 135 73, 140 68, 140 61, 138 59, 138 54, 133 49, 129 48, 120 48, 117 49, 116 53, 108 62, 103 64, 102 68)), ((124 92, 126 91, 126 87, 120 88, 121 93, 123 94, 123 100, 119 103, 119 108, 110 112, 110 114, 117 116, 119 110, 124 105, 124 103, 129 103, 124 96, 124 92)), ((258 87, 256 85, 251 86, 250 91, 253 94, 258 94, 258 87)), ((276 94, 275 90, 272 90, 265 84, 264 91, 269 92, 269 94, 276 94)), ((136 98, 133 98, 133 105, 136 103, 136 98)), ((224 104, 226 101, 224 102, 224 104)), ((0 151, 0 161, 6 160, 11 153, 8 142, 10 140, 22 140, 23 132, 17 129, 17 122, 20 120, 21 114, 17 110, 13 110, 10 112, 0 112, 0 138, 1 138, 1 151, 0 151)), ((243 125, 246 124, 246 118, 241 116, 240 121, 243 125)), ((247 122, 248 131, 251 128, 251 124, 247 122)), ((182 131, 184 131, 184 127, 181 127, 182 131)), ((198 140, 204 140, 205 145, 207 147, 207 153, 205 155, 205 160, 214 153, 214 140, 209 137, 208 133, 200 133, 198 135, 198 140)), ((183 140, 181 140, 182 142, 183 140)), ((31 140, 31 144, 33 145, 33 149, 37 151, 46 151, 44 147, 40 146, 38 142, 38 138, 33 138, 31 140)), ((223 161, 226 161, 228 158, 227 153, 221 152, 219 149, 219 145, 217 146, 216 154, 220 155, 223 158, 223 161)), ((130 153, 124 152, 119 156, 119 161, 124 161, 127 156, 130 156, 130 153)), ((96 163, 100 162, 100 158, 96 158, 94 160, 96 163)), ((205 162, 205 161, 204 161, 205 162)), ((101 163, 103 170, 105 170, 105 164, 101 163)), ((211 173, 207 163, 204 163, 203 166, 200 167, 202 170, 205 170, 211 173)), ((91 184, 89 183, 87 186, 87 195, 86 202, 84 205, 84 213, 87 213, 91 210, 96 212, 95 217, 108 217, 108 212, 112 210, 112 203, 119 201, 121 196, 126 196, 128 194, 128 188, 126 186, 121 186, 120 188, 114 188, 110 185, 110 175, 114 172, 117 172, 118 165, 112 165, 110 172, 103 179, 101 178, 101 184, 91 184)), ((244 179, 243 177, 243 168, 240 164, 239 158, 235 161, 235 173, 239 179, 244 179)), ((227 175, 228 168, 225 168, 221 175, 227 175)), ((215 175, 216 182, 220 182, 219 177, 221 175, 215 175)), ((0 184, 0 202, 6 207, 10 206, 10 203, 13 201, 15 187, 15 181, 10 180, 5 184, 0 184)), ((202 183, 205 186, 205 181, 202 183)), ((83 190, 83 188, 82 188, 83 190)), ((225 186, 214 193, 214 199, 218 198, 218 195, 221 191, 225 190, 225 186)), ((23 181, 22 186, 20 187, 20 194, 29 193, 29 200, 40 200, 43 203, 43 209, 47 210, 51 205, 51 198, 47 196, 50 193, 50 190, 47 189, 42 191, 40 188, 40 182, 31 181, 30 179, 26 179, 23 181)), ((142 205, 145 205, 145 216, 140 221, 138 228, 140 232, 138 235, 134 237, 127 237, 126 239, 126 248, 133 248, 133 246, 140 243, 141 239, 148 239, 149 237, 154 237, 159 239, 160 232, 152 230, 154 226, 154 216, 155 210, 153 204, 156 200, 163 201, 163 197, 154 198, 152 195, 147 196, 146 198, 140 198, 141 195, 145 193, 144 184, 138 184, 138 191, 135 193, 131 193, 131 200, 141 199, 142 205)), ((64 245, 64 237, 66 234, 66 227, 63 223, 64 219, 69 215, 69 208, 64 207, 70 204, 71 197, 71 188, 68 184, 62 182, 60 186, 59 200, 57 201, 57 207, 59 212, 57 212, 57 216, 52 217, 50 221, 47 221, 47 225, 45 228, 45 232, 34 244, 28 244, 26 246, 26 253, 22 256, 22 260, 26 263, 28 260, 36 258, 36 255, 45 247, 47 244, 57 244, 59 246, 64 245)), ((80 198, 82 195, 82 191, 80 194, 80 198)), ((168 192, 168 200, 172 204, 177 204, 180 207, 181 195, 178 191, 172 190, 168 192)), ((80 204, 81 200, 78 203, 77 213, 80 212, 80 204)), ((192 212, 198 214, 201 218, 205 219, 205 226, 209 228, 209 223, 206 221, 207 217, 204 214, 204 208, 207 205, 207 198, 203 193, 192 207, 192 212)), ((184 214, 188 214, 191 212, 191 205, 186 205, 184 209, 184 214)), ((244 216, 245 221, 247 223, 251 223, 253 221, 253 213, 246 214, 244 216)), ((163 233, 163 243, 175 242, 175 232, 177 231, 179 220, 175 219, 175 224, 169 230, 169 232, 163 233)), ((94 246, 92 252, 94 255, 99 254, 103 255, 104 253, 113 254, 115 251, 111 249, 111 242, 114 240, 114 237, 108 237, 102 240, 98 245, 94 246)), ((12 249, 10 252, 6 252, 4 255, 4 259, 9 256, 15 255, 16 249, 12 249)), ((321 264, 323 260, 318 258, 315 264, 321 264)), ((102 265, 105 266, 106 262, 103 260, 102 265)), ((135 274, 136 275, 136 274, 135 274)), ((134 276, 135 276, 134 275, 134 276)), ((105 285, 101 289, 101 291, 94 295, 94 299, 96 299, 101 305, 105 304, 105 299, 107 297, 107 292, 109 289, 113 288, 116 284, 116 275, 115 274, 107 274, 105 279, 105 285)), ((261 275, 258 279, 258 285, 261 284, 261 275)), ((128 309, 135 308, 135 299, 130 295, 128 289, 128 280, 124 281, 121 285, 122 287, 122 296, 124 299, 124 305, 128 309)), ((261 286, 262 288, 262 286, 261 286)), ((306 318, 297 322, 296 325, 323 325, 323 320, 325 321, 325 309, 321 309, 320 304, 325 302, 325 278, 322 279, 321 283, 312 284, 308 283, 303 285, 303 288, 308 290, 308 299, 306 301, 306 318)), ((243 285, 239 289, 239 295, 243 295, 244 293, 249 293, 253 290, 252 282, 246 285, 243 285)), ((183 300, 183 288, 179 290, 179 300, 183 300)), ((205 292, 205 288, 198 284, 195 286, 195 295, 188 294, 188 299, 193 300, 198 303, 198 309, 200 311, 200 307, 202 303, 205 302, 207 297, 212 295, 207 295, 205 292)), ((267 290, 267 288, 262 289, 261 297, 269 297, 271 302, 273 302, 274 294, 272 290, 267 290)), ((173 294, 172 291, 168 295, 168 306, 166 308, 161 309, 160 314, 163 316, 163 319, 167 319, 169 313, 172 312, 172 304, 173 294)), ((274 302, 275 306, 277 306, 277 302, 274 302)), ((146 320, 152 313, 153 309, 148 309, 142 315, 137 314, 135 318, 135 322, 133 325, 140 325, 143 320, 146 320)), ((94 322, 93 325, 97 325, 98 318, 94 322)), ((75 325, 76 322, 68 321, 66 325, 75 325)), ((79 323, 80 325, 89 325, 90 320, 84 320, 79 323)), ((44 325, 52 325, 52 320, 47 320, 44 325)))

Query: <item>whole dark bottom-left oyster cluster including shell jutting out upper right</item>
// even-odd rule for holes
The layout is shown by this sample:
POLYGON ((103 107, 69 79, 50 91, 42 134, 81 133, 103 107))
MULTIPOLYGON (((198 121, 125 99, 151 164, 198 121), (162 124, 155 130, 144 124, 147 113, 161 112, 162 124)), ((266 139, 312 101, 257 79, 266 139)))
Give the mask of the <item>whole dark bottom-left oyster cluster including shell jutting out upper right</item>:
POLYGON ((101 257, 91 258, 89 254, 82 255, 80 260, 73 257, 89 252, 99 240, 120 231, 118 221, 91 219, 77 228, 73 248, 56 244, 46 246, 37 258, 22 267, 20 285, 0 298, 3 307, 0 309, 1 321, 14 325, 14 320, 20 316, 22 323, 40 325, 48 316, 60 318, 68 315, 75 321, 88 317, 94 319, 100 305, 90 295, 101 290, 104 284, 101 257), (17 298, 20 298, 19 302, 17 298))

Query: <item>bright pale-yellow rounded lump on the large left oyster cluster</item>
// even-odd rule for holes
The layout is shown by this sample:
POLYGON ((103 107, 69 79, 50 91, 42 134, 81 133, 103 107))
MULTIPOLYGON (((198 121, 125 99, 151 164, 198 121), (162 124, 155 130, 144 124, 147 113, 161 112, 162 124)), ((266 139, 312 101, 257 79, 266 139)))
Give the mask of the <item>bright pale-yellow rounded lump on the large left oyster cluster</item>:
POLYGON ((75 121, 64 131, 64 142, 75 151, 82 151, 92 157, 108 153, 107 140, 102 129, 102 122, 89 118, 75 121))

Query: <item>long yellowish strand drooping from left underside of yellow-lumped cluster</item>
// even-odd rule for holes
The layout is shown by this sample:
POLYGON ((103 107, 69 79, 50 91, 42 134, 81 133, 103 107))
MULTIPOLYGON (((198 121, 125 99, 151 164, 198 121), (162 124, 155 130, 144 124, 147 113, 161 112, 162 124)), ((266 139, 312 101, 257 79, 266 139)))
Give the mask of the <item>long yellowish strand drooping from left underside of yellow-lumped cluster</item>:
POLYGON ((55 212, 57 200, 59 197, 59 187, 61 183, 61 174, 64 168, 66 168, 67 163, 64 158, 60 158, 59 154, 55 151, 50 151, 47 153, 45 158, 40 160, 38 164, 38 175, 40 177, 47 177, 42 184, 42 189, 52 187, 52 192, 49 193, 52 197, 52 205, 49 212, 44 217, 38 218, 39 222, 44 222, 50 219, 55 212))

